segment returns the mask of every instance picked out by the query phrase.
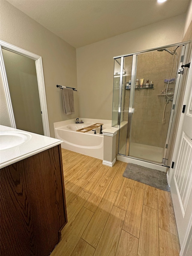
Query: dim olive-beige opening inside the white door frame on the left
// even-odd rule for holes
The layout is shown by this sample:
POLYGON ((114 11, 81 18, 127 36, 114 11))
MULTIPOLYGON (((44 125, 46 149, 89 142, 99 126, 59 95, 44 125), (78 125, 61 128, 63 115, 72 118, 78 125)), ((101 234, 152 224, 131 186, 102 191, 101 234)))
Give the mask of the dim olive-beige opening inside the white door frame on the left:
POLYGON ((44 135, 35 60, 2 49, 16 128, 44 135))

